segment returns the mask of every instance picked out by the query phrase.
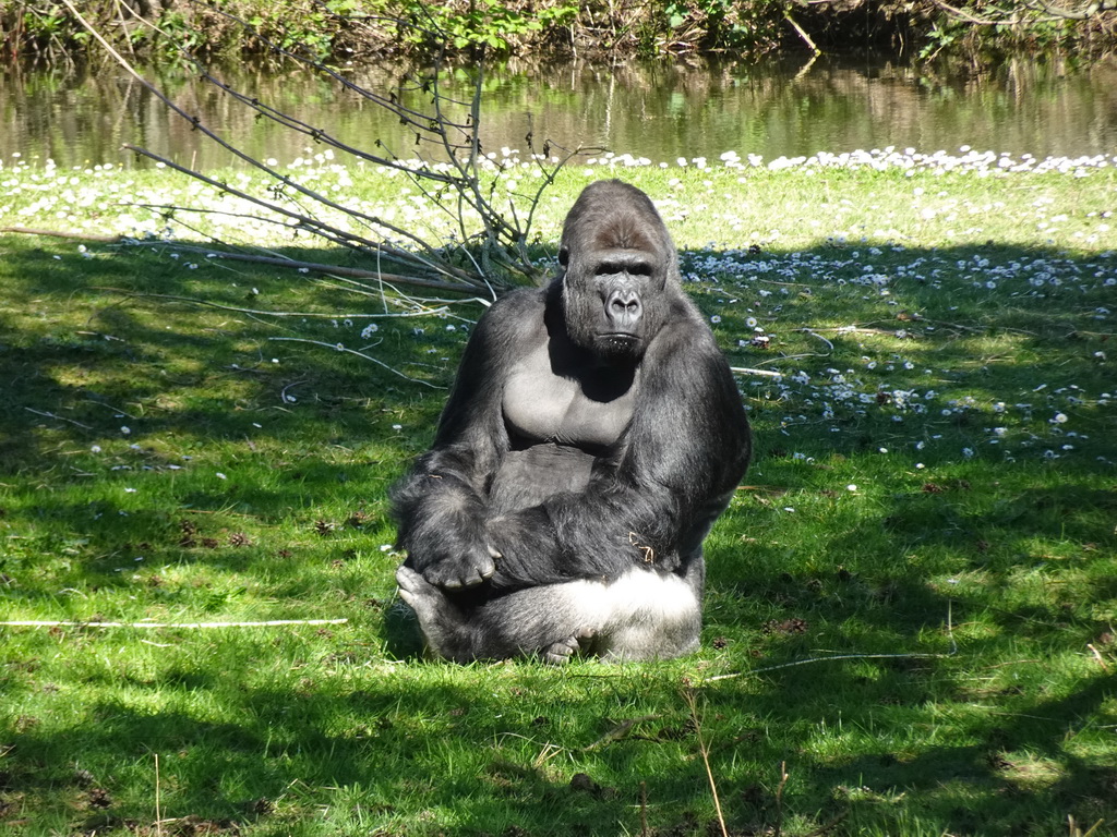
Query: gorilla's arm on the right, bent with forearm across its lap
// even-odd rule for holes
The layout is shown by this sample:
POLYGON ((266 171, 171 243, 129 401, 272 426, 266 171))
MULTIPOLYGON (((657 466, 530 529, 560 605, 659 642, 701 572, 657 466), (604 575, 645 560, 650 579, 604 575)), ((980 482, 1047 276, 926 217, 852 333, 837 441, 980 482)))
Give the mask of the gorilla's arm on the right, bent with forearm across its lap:
POLYGON ((613 579, 647 562, 674 570, 725 507, 747 465, 747 422, 713 335, 677 305, 643 358, 617 455, 599 460, 584 492, 490 521, 495 588, 613 579))

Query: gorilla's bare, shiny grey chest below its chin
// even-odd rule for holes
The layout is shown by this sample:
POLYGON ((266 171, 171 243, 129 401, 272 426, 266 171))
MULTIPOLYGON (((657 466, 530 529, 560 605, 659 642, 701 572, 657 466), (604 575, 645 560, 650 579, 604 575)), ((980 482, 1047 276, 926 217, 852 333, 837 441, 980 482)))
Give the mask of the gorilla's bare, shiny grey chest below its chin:
POLYGON ((558 374, 547 346, 512 369, 504 391, 509 434, 531 443, 553 442, 582 451, 611 448, 632 419, 639 374, 608 368, 558 374))

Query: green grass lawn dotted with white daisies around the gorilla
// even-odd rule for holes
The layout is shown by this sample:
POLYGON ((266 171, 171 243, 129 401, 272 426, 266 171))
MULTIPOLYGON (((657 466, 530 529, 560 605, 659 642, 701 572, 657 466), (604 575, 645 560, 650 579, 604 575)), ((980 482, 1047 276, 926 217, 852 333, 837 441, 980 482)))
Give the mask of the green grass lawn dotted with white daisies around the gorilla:
MULTIPOLYGON (((608 173, 562 179, 545 250, 608 173)), ((0 238, 3 618, 347 619, 0 628, 0 829, 719 834, 700 734, 732 834, 1114 833, 1117 171, 619 173, 732 364, 784 373, 738 378, 757 456, 701 650, 653 664, 408 652, 385 492, 445 392, 271 338, 445 386, 479 307, 362 338, 380 300, 313 277, 0 238)), ((60 176, 2 172, 0 224, 193 190, 60 176)))

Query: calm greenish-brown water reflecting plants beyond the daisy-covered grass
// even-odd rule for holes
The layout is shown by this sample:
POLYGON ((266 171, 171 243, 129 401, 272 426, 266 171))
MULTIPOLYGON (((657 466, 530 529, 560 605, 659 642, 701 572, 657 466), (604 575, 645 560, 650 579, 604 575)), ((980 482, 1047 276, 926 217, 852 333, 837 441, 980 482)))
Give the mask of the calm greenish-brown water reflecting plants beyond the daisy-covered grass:
MULTIPOLYGON (((239 67, 214 75, 278 110, 365 148, 381 140, 414 156, 414 136, 382 108, 303 70, 239 67)), ((408 94, 390 66, 349 71, 383 94, 408 94)), ((289 162, 316 151, 306 136, 258 118, 249 107, 197 76, 151 71, 187 113, 254 155, 289 162)), ((468 98, 464 74, 443 90, 468 98)), ((429 99, 429 97, 426 97, 429 99)), ((1058 62, 1006 61, 983 76, 939 74, 889 61, 822 57, 762 66, 585 64, 485 79, 487 150, 526 152, 531 132, 563 147, 595 146, 670 162, 734 151, 765 160, 896 146, 920 152, 980 151, 1037 157, 1117 153, 1117 62, 1069 71, 1058 62)), ((150 164, 122 151, 134 143, 202 169, 231 158, 124 70, 89 75, 0 74, 0 162, 59 166, 150 164)))

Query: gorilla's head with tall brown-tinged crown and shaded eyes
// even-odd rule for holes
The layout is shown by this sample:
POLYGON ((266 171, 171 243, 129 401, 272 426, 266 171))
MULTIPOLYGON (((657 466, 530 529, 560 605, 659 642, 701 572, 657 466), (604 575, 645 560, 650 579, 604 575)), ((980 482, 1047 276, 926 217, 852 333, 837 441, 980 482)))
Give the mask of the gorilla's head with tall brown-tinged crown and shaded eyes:
POLYGON ((574 345, 609 363, 639 360, 680 287, 675 244, 648 195, 591 183, 566 215, 558 262, 574 345))

